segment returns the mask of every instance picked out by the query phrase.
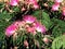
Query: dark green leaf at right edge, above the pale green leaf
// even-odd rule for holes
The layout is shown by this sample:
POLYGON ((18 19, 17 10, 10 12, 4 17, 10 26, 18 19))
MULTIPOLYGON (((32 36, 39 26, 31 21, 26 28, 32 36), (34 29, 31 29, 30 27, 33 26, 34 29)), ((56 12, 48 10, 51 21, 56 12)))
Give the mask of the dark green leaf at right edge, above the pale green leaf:
POLYGON ((53 19, 52 20, 54 22, 54 28, 52 29, 52 35, 54 37, 61 36, 65 33, 65 22, 57 20, 57 19, 53 19))

